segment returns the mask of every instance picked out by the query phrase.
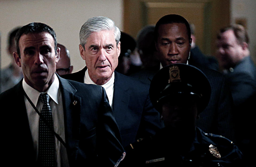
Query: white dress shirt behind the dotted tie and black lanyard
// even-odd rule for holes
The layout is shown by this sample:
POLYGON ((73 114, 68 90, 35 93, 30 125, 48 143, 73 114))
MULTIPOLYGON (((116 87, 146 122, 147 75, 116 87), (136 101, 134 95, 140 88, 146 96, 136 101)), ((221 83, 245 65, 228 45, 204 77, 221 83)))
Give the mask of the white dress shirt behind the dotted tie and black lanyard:
MULTIPOLYGON (((29 99, 32 103, 36 106, 39 112, 41 112, 43 103, 39 99, 40 92, 36 89, 29 86, 24 78, 22 81, 22 87, 26 92, 29 99)), ((50 85, 49 89, 46 93, 50 96, 50 106, 52 108, 52 116, 53 116, 53 126, 54 131, 62 138, 65 142, 65 129, 64 129, 64 114, 63 114, 63 104, 62 104, 62 96, 59 87, 59 80, 54 74, 53 83, 50 85)), ((29 127, 34 143, 34 151, 37 153, 38 157, 38 134, 39 134, 39 115, 33 109, 32 105, 29 103, 27 98, 24 96, 26 110, 27 110, 27 117, 29 120, 29 127)), ((67 151, 64 145, 60 143, 60 141, 55 137, 55 154, 56 154, 56 163, 57 166, 69 166, 68 164, 68 156, 67 151)))

